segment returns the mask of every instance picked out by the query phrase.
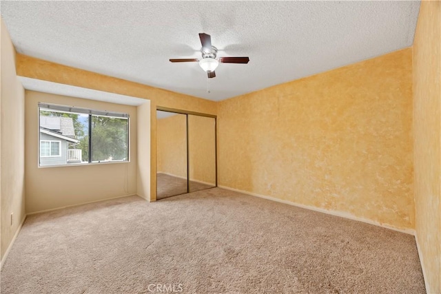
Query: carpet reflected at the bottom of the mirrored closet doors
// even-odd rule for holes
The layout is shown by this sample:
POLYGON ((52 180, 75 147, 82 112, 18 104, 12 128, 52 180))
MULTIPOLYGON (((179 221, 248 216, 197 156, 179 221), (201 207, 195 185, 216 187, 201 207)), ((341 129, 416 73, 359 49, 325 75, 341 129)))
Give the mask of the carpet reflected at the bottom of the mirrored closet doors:
MULTIPOLYGON (((156 178, 156 199, 158 200, 187 193, 187 180, 184 178, 178 178, 163 173, 158 173, 156 175, 156 178)), ((193 180, 190 180, 189 182, 190 192, 201 191, 212 187, 214 187, 214 185, 206 185, 201 182, 195 182, 193 180)))

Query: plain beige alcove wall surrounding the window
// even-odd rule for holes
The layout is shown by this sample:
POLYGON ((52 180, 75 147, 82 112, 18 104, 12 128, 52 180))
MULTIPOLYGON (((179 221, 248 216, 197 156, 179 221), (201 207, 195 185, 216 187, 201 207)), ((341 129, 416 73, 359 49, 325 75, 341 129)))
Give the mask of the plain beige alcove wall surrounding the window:
POLYGON ((25 92, 26 212, 136 194, 136 107, 41 92, 25 92), (130 114, 130 162, 38 167, 38 103, 130 114))

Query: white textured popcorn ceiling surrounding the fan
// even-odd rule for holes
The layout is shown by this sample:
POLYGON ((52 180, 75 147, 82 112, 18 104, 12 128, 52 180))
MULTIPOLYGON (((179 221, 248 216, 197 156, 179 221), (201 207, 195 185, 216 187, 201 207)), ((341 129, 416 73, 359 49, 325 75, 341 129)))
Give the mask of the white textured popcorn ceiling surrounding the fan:
POLYGON ((413 43, 419 1, 1 1, 17 51, 219 101, 413 43), (197 63, 211 34, 216 78, 197 63), (207 81, 209 90, 207 92, 207 81))

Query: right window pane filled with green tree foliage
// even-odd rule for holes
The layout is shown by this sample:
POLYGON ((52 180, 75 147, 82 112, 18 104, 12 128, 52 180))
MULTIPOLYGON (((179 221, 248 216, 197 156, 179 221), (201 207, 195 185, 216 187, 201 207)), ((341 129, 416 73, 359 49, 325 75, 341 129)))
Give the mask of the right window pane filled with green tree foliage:
POLYGON ((92 162, 128 160, 128 119, 92 115, 92 162))

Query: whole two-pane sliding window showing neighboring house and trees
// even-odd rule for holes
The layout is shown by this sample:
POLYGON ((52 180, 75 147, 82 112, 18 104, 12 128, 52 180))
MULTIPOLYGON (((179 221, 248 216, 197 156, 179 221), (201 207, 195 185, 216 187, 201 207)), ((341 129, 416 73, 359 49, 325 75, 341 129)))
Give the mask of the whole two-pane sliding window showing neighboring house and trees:
POLYGON ((47 103, 39 114, 40 166, 129 161, 128 114, 47 103))

